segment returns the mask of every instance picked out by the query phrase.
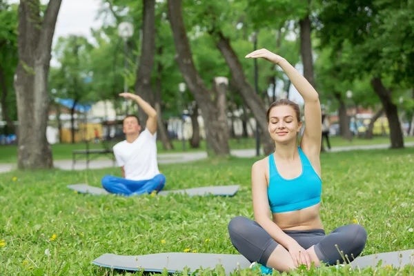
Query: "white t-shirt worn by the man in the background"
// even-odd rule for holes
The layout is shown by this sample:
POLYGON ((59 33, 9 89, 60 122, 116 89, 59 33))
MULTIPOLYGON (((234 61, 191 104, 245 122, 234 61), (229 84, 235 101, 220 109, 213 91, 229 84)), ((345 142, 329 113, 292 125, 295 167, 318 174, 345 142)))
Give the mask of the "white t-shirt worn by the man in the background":
POLYGON ((145 129, 132 143, 124 140, 113 147, 118 166, 124 166, 126 179, 146 180, 159 174, 156 141, 157 132, 152 135, 145 129))

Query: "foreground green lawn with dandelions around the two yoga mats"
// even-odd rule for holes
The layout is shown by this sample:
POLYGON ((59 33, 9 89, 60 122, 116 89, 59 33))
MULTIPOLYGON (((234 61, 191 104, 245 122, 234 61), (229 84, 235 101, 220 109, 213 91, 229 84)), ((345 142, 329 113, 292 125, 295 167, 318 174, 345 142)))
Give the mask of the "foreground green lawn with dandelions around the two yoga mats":
MULTIPOLYGON (((2 275, 132 275, 91 262, 104 253, 237 254, 227 224, 237 215, 253 218, 250 168, 255 160, 229 157, 160 166, 167 178, 165 189, 239 184, 242 187, 234 197, 127 198, 81 195, 66 188, 82 182, 99 186, 103 175, 119 176, 117 168, 3 174, 0 271, 2 275)), ((356 222, 368 232, 362 255, 413 249, 413 160, 414 148, 324 153, 321 216, 326 233, 356 222)), ((414 275, 413 270, 407 266, 400 275, 414 275)), ((304 274, 396 275, 397 270, 322 268, 294 273, 304 274)), ((257 272, 246 269, 235 275, 257 272)))

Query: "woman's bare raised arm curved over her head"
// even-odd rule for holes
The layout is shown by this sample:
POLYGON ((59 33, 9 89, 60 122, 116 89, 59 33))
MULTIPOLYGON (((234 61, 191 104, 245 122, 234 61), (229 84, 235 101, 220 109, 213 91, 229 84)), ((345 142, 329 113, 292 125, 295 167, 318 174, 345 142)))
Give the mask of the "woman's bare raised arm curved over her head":
POLYGON ((306 155, 311 159, 313 159, 313 157, 319 158, 322 139, 322 114, 319 95, 315 88, 313 88, 311 83, 309 83, 304 76, 300 75, 299 72, 286 61, 286 59, 273 52, 266 49, 260 49, 251 52, 246 56, 246 58, 259 57, 279 65, 304 99, 306 127, 301 141, 301 148, 303 148, 306 155))

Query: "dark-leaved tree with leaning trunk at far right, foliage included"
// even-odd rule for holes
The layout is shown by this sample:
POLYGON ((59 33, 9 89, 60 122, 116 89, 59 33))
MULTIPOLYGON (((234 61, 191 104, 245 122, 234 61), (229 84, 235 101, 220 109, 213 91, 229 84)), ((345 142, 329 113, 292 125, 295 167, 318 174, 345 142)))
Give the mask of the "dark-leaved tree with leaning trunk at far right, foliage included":
POLYGON ((330 0, 324 1, 318 13, 318 34, 322 46, 330 46, 337 51, 344 46, 350 49, 348 79, 371 76, 371 86, 380 98, 390 126, 391 148, 404 148, 393 95, 407 82, 413 87, 413 82, 407 81, 409 72, 413 72, 413 42, 412 39, 404 39, 412 35, 412 20, 409 20, 412 12, 404 12, 413 8, 413 3, 408 2, 330 0), (389 21, 395 14, 406 20, 401 22, 402 26, 389 21), (348 20, 350 18, 351 21, 348 20), (400 53, 404 53, 402 59, 400 53))

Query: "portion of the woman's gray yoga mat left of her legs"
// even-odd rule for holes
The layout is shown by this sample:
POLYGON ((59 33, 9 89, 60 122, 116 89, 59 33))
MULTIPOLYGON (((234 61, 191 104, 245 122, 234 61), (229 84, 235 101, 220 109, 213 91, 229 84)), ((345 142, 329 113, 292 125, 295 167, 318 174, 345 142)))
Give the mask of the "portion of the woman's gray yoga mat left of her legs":
POLYGON ((250 262, 242 255, 206 253, 158 253, 139 256, 104 254, 94 259, 92 264, 122 270, 144 269, 148 272, 162 272, 166 268, 169 273, 182 272, 186 266, 189 272, 194 272, 199 268, 214 269, 217 264, 221 264, 226 275, 230 275, 237 268, 250 266, 250 262))

